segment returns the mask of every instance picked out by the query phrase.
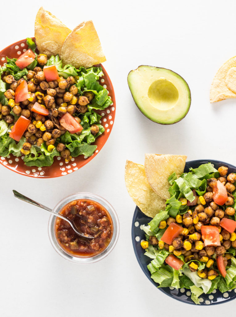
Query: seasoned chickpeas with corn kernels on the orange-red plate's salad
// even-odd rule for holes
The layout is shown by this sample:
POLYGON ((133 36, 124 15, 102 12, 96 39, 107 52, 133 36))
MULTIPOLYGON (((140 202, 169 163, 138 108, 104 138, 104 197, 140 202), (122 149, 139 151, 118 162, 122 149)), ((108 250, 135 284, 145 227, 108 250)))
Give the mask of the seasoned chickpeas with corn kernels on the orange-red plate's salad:
MULTIPOLYGON (((44 66, 47 63, 47 56, 39 54, 37 61, 40 66, 44 66)), ((88 104, 94 98, 92 92, 85 92, 83 96, 78 94, 78 88, 75 85, 76 77, 69 76, 65 79, 61 76, 58 80, 47 82, 40 66, 36 66, 33 71, 28 71, 27 86, 30 97, 18 103, 15 103, 15 89, 24 79, 16 81, 12 75, 7 73, 2 76, 3 81, 9 85, 9 89, 4 93, 9 105, 4 106, 0 103, 0 120, 3 119, 8 124, 12 124, 14 122, 14 116, 10 114, 12 110, 17 116, 22 115, 32 121, 24 133, 26 142, 23 144, 21 153, 25 155, 29 153, 32 145, 40 147, 43 142, 52 150, 56 139, 66 132, 66 129, 60 125, 60 117, 65 113, 70 113, 75 115, 74 118, 78 123, 81 123, 79 115, 87 112, 88 104), (31 109, 35 102, 47 108, 49 115, 44 116, 32 112, 31 109)), ((93 135, 99 132, 98 125, 94 124, 90 129, 93 135)), ((81 132, 76 134, 81 134, 81 132)), ((63 143, 57 144, 57 151, 65 159, 70 157, 70 151, 63 143)))

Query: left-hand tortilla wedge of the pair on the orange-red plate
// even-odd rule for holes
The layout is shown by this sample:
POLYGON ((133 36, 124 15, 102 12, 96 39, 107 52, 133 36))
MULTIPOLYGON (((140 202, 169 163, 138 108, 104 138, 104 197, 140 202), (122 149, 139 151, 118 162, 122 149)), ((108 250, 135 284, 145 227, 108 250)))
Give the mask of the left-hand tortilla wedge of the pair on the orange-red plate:
POLYGON ((61 54, 62 45, 71 32, 56 16, 41 7, 34 23, 34 36, 38 50, 48 57, 61 54))

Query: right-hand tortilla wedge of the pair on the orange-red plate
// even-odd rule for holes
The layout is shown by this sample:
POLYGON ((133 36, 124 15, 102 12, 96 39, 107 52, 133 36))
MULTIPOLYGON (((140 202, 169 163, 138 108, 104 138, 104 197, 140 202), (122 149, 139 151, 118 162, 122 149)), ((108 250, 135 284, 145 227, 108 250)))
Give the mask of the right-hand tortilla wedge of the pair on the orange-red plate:
POLYGON ((82 22, 67 36, 62 47, 63 65, 91 67, 106 61, 92 21, 82 22))

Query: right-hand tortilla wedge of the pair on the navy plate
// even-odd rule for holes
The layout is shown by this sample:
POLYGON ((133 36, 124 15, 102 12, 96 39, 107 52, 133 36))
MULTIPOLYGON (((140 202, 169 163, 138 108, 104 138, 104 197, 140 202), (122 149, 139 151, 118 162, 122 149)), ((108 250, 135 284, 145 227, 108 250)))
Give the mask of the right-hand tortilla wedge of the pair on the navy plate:
POLYGON ((185 155, 145 154, 145 172, 148 183, 162 198, 170 198, 168 177, 175 172, 179 177, 185 168, 185 155))

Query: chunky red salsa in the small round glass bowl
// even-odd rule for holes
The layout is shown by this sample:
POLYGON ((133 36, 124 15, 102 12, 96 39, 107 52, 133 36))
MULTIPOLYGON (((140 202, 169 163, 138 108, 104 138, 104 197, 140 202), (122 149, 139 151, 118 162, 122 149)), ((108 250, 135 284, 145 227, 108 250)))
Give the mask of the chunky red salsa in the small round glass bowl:
POLYGON ((67 221, 57 218, 56 238, 66 252, 74 256, 90 257, 106 249, 112 239, 113 223, 102 205, 93 200, 78 199, 65 205, 60 213, 73 220, 82 233, 94 237, 86 239, 78 236, 67 221))

